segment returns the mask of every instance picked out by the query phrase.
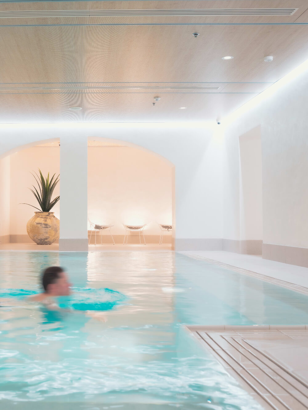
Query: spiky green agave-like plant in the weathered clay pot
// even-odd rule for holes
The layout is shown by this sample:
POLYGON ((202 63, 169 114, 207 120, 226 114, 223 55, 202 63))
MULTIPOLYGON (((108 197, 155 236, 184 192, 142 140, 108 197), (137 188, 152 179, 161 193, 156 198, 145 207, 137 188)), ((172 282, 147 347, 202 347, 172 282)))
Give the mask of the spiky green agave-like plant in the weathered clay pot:
POLYGON ((37 185, 39 186, 39 191, 32 185, 34 190, 32 188, 29 188, 30 191, 33 192, 35 198, 37 198, 37 202, 39 203, 39 206, 41 209, 37 208, 34 205, 30 204, 24 204, 24 205, 30 205, 33 208, 42 211, 42 212, 50 212, 50 210, 55 206, 55 204, 58 202, 60 199, 60 196, 56 196, 53 200, 51 199, 51 196, 53 194, 53 190, 55 189, 55 186, 59 182, 59 177, 60 174, 55 178, 55 174, 51 177, 49 180, 49 172, 46 178, 43 177, 43 174, 41 173, 41 170, 39 169, 39 175, 35 172, 35 175, 32 174, 37 182, 37 185))

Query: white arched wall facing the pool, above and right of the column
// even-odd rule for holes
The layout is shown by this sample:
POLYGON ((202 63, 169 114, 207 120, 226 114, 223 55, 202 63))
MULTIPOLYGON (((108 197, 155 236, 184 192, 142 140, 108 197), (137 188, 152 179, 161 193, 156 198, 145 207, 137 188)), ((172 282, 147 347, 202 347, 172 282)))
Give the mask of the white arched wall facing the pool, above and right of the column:
POLYGON ((71 135, 118 139, 153 151, 175 165, 176 238, 184 239, 182 248, 187 239, 222 237, 221 140, 206 124, 0 124, 0 132, 0 157, 25 144, 71 135))

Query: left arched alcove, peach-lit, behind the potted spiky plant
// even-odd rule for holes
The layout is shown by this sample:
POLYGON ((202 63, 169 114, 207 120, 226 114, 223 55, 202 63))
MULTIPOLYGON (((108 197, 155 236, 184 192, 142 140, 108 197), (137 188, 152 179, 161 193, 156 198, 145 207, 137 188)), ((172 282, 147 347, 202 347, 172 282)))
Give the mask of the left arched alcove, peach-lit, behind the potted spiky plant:
MULTIPOLYGON (((5 249, 58 249, 58 240, 51 246, 37 246, 28 237, 26 225, 38 207, 37 200, 28 189, 35 185, 31 172, 41 169, 43 175, 60 173, 59 139, 48 139, 20 146, 0 159, 0 246, 5 249)), ((54 196, 59 195, 59 184, 54 196)), ((60 219, 60 205, 52 212, 60 219)))

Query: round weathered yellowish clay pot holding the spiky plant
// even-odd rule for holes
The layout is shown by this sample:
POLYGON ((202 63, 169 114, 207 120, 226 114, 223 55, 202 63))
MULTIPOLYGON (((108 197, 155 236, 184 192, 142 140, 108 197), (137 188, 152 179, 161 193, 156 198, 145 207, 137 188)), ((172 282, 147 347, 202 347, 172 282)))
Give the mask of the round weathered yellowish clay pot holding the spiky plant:
POLYGON ((59 237, 60 221, 54 212, 34 212, 27 223, 27 233, 38 245, 51 245, 59 237))

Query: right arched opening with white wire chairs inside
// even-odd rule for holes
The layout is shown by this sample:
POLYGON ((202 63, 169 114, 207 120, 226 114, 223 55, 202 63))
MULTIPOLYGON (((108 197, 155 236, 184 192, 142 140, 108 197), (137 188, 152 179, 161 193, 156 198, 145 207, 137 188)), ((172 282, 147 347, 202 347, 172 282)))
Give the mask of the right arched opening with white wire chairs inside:
POLYGON ((89 250, 111 247, 113 242, 115 248, 143 249, 145 243, 146 249, 173 249, 174 168, 135 144, 89 137, 89 250), (99 231, 95 225, 112 226, 99 231))

